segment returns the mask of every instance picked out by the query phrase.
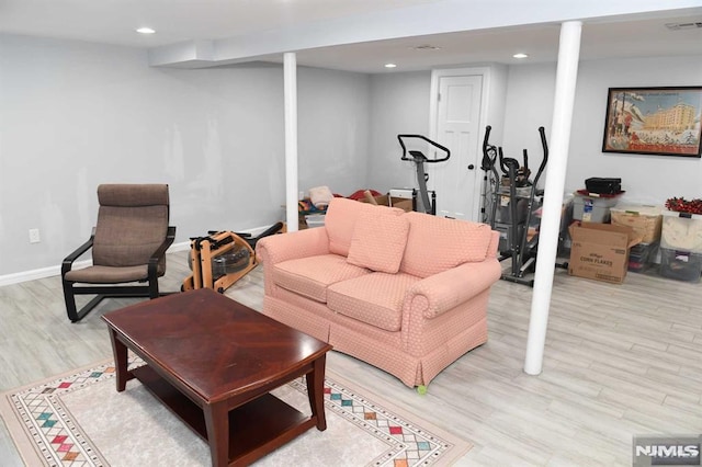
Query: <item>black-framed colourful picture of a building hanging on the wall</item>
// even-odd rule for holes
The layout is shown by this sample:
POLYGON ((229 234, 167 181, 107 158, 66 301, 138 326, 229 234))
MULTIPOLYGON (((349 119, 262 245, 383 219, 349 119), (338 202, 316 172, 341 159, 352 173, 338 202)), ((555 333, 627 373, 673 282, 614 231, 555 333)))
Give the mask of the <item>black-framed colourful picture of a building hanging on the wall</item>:
POLYGON ((700 157, 702 87, 610 88, 602 152, 700 157))

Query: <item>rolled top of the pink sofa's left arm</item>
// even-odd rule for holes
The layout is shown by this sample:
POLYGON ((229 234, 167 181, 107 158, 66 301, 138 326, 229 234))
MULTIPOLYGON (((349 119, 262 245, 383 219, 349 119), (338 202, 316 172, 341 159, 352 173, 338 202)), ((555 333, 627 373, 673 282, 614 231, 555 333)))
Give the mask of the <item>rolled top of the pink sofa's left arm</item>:
POLYGON ((329 253, 327 229, 314 228, 272 235, 256 243, 256 255, 263 264, 329 253))

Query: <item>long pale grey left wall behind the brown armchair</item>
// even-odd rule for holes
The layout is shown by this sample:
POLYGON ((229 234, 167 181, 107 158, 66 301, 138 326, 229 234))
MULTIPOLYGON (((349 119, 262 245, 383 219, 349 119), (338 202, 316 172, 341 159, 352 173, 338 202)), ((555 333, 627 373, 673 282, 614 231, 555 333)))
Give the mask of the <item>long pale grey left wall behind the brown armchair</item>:
MULTIPOLYGON (((298 90, 301 190, 350 193, 369 77, 301 69, 298 90)), ((134 48, 0 35, 0 277, 58 271, 107 182, 169 183, 177 242, 282 219, 282 68, 158 69, 134 48)))

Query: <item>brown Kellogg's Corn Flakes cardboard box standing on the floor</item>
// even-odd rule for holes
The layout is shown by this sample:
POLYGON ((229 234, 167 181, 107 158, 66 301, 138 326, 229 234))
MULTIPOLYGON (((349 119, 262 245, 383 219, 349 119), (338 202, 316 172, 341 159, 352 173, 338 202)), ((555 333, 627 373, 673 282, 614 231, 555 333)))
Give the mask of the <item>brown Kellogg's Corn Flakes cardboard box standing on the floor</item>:
POLYGON ((569 227, 568 274, 621 284, 629 269, 629 249, 641 242, 631 227, 581 223, 569 227))

